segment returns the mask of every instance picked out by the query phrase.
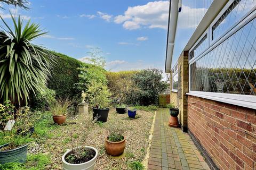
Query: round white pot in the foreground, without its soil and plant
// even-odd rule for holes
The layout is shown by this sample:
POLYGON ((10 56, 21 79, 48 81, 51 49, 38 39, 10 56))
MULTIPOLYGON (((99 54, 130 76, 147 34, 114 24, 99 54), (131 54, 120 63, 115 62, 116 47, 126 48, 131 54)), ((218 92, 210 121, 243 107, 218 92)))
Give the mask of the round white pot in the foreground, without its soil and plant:
MULTIPOLYGON (((81 148, 81 147, 79 147, 81 148)), ((68 150, 63 156, 62 156, 62 167, 64 170, 93 170, 97 157, 98 157, 98 150, 93 147, 85 147, 87 149, 92 149, 95 151, 95 156, 89 160, 88 162, 82 163, 82 164, 69 164, 66 162, 65 157, 71 150, 68 150)), ((76 149, 76 148, 75 148, 76 149)))

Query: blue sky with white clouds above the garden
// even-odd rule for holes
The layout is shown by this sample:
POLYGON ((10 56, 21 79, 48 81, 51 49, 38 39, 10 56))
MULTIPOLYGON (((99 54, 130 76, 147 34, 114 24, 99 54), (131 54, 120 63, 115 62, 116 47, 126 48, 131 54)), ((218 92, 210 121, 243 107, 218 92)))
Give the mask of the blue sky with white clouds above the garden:
MULTIPOLYGON (((10 9, 26 20, 41 24, 49 33, 35 40, 35 44, 77 59, 87 56, 91 47, 100 47, 107 69, 112 71, 147 67, 164 70, 169 1, 29 2, 28 11, 4 5, 0 15, 10 23, 10 9)), ((184 12, 179 16, 174 62, 194 31, 194 26, 186 22, 190 2, 182 1, 184 12)))

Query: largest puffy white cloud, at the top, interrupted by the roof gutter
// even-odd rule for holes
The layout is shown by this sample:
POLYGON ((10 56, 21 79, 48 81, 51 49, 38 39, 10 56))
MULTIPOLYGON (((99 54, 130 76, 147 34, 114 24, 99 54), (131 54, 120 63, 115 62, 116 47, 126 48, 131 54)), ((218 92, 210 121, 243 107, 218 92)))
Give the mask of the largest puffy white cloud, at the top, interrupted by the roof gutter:
MULTIPOLYGON (((206 8, 191 8, 182 5, 179 13, 180 28, 194 28, 196 23, 190 23, 188 13, 191 17, 196 17, 206 11, 206 8)), ((123 24, 127 30, 139 28, 161 28, 167 29, 169 18, 169 1, 154 1, 145 5, 130 6, 123 15, 117 15, 114 22, 123 24)))

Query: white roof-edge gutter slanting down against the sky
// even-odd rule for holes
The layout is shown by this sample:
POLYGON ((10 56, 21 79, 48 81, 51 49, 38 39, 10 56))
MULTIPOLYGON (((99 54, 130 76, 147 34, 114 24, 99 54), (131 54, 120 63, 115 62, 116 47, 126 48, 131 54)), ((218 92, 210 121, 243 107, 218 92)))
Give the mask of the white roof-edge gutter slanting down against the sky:
POLYGON ((167 33, 167 47, 165 58, 165 73, 171 72, 172 55, 177 29, 178 13, 181 11, 181 0, 170 0, 169 23, 167 33))

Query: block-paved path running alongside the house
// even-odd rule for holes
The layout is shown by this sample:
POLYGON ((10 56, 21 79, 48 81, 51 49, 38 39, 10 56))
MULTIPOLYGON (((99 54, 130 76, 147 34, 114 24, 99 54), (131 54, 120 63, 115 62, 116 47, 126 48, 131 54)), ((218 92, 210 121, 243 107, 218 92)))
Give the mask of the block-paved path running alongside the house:
POLYGON ((187 133, 168 126, 166 108, 156 112, 148 169, 210 169, 187 133))

